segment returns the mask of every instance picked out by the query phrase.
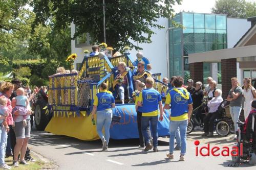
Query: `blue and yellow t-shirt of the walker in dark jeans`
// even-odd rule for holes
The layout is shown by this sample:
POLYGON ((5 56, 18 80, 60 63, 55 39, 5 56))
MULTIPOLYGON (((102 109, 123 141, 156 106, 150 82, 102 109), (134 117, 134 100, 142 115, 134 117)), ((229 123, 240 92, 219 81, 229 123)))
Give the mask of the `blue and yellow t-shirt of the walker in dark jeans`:
POLYGON ((160 93, 153 88, 146 88, 140 92, 139 102, 142 103, 142 116, 157 116, 158 103, 162 102, 160 93))

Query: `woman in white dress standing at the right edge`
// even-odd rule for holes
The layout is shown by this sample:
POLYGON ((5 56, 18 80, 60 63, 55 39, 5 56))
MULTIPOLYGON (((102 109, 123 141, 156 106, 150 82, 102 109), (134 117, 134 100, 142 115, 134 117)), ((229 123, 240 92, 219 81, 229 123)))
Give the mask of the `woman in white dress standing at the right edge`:
POLYGON ((244 119, 248 117, 250 111, 251 111, 251 102, 256 100, 256 90, 251 85, 251 79, 245 78, 243 80, 244 83, 244 90, 243 90, 243 96, 245 98, 244 101, 244 119))

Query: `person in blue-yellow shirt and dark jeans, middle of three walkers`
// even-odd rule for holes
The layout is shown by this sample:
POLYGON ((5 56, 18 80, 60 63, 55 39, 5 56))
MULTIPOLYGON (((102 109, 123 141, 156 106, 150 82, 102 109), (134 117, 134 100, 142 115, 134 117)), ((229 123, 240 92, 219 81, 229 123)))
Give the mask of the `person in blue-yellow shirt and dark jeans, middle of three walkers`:
POLYGON ((157 123, 158 114, 160 109, 159 120, 163 120, 163 106, 160 93, 153 88, 154 79, 152 77, 146 78, 146 89, 142 90, 138 99, 138 106, 142 107, 141 117, 141 129, 142 134, 146 140, 145 152, 151 150, 154 147, 154 152, 158 152, 157 149, 157 123), (151 130, 153 136, 153 146, 150 142, 150 136, 147 133, 147 127, 151 123, 151 130))

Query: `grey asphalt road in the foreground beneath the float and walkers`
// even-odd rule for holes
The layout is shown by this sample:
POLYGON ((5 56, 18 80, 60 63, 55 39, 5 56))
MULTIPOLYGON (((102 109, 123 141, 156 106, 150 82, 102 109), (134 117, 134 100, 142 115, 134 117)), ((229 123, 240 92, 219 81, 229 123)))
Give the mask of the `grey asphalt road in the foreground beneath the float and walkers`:
POLYGON ((199 136, 202 132, 192 132, 188 135, 187 154, 185 161, 180 162, 180 151, 175 151, 174 160, 166 158, 168 153, 168 138, 159 138, 159 152, 152 150, 144 152, 138 149, 138 139, 110 140, 109 151, 101 152, 101 142, 82 141, 79 139, 54 135, 44 131, 32 130, 32 137, 29 147, 36 153, 53 160, 59 169, 256 169, 256 165, 250 166, 248 163, 235 164, 231 157, 196 157, 196 146, 194 141, 200 140, 199 146, 205 146, 210 142, 210 146, 224 145, 229 147, 233 140, 228 137, 216 136, 205 139, 199 136))

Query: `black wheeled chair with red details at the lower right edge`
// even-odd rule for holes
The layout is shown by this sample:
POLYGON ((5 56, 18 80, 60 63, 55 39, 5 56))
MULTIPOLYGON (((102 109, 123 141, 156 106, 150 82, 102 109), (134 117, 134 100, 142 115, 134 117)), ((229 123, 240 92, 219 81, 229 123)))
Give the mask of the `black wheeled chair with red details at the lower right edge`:
POLYGON ((248 160, 250 165, 256 164, 256 112, 249 115, 247 122, 238 121, 237 143, 234 146, 239 148, 242 143, 243 154, 232 156, 232 161, 239 163, 241 159, 248 160), (242 155, 242 156, 241 156, 242 155))

